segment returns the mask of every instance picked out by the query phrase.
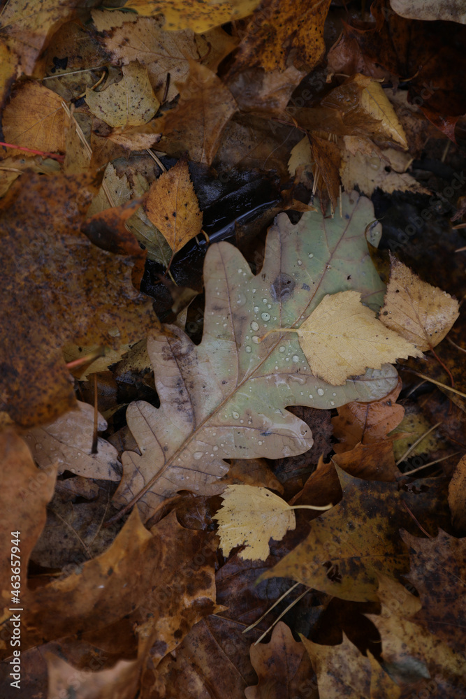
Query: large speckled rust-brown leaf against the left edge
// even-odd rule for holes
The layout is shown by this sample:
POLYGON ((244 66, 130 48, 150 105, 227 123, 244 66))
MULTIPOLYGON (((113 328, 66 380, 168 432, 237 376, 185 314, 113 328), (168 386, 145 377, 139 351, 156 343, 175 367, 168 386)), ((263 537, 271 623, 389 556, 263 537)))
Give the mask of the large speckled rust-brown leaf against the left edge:
POLYGON ((157 324, 131 284, 142 251, 117 256, 80 232, 96 185, 23 175, 1 201, 1 409, 24 426, 75 405, 61 346, 119 347, 157 324))

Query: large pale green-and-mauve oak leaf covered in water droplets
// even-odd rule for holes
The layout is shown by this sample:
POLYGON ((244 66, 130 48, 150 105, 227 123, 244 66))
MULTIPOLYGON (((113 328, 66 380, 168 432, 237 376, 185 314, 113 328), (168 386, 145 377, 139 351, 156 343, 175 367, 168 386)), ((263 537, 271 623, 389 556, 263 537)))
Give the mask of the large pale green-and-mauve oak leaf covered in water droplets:
MULTIPOLYGON (((179 489, 219 492, 217 479, 228 468, 224 459, 277 459, 310 448, 310 428, 287 406, 332 408, 378 399, 395 387, 391 366, 342 387, 326 384, 312 374, 291 333, 273 333, 259 343, 266 330, 307 316, 329 292, 360 289, 368 303, 379 302, 382 284, 364 233, 372 205, 353 196, 342 198, 342 219, 306 212, 293 225, 279 215, 259 275, 235 247, 210 246, 201 344, 175 326, 170 337, 151 333, 147 340, 161 407, 138 401, 126 411, 141 454, 123 454, 115 503, 140 498, 147 519, 179 489)), ((374 243, 378 236, 376 227, 374 243)))

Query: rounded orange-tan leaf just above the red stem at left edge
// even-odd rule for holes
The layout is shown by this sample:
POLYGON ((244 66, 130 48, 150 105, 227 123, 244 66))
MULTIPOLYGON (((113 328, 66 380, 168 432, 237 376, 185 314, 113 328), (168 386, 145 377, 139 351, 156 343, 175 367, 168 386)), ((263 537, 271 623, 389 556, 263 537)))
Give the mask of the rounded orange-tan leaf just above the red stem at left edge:
MULTIPOLYGON (((38 82, 24 82, 3 111, 3 134, 7 143, 48 153, 65 151, 70 120, 61 97, 38 82)), ((22 154, 11 150, 8 155, 22 154)))

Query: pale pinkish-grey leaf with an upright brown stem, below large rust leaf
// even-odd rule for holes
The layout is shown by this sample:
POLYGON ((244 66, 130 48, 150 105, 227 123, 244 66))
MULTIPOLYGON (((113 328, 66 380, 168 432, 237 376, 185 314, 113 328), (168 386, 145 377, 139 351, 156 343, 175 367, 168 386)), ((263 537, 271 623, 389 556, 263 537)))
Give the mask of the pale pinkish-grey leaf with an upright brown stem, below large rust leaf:
MULTIPOLYGON (((99 432, 107 428, 101 415, 98 428, 99 432)), ((87 478, 119 480, 117 450, 99 437, 97 451, 92 454, 93 432, 94 408, 78 402, 78 410, 66 412, 51 424, 27 430, 24 438, 41 468, 57 463, 59 475, 68 470, 87 478)))

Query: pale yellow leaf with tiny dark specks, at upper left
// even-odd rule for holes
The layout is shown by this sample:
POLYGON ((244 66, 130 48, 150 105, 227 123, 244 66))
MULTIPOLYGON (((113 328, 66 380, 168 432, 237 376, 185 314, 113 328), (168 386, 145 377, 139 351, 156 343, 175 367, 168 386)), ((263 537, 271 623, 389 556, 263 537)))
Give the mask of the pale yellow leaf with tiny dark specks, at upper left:
POLYGON ((160 106, 147 69, 137 61, 124 66, 122 80, 102 92, 88 88, 85 100, 92 113, 114 129, 147 124, 160 106))

